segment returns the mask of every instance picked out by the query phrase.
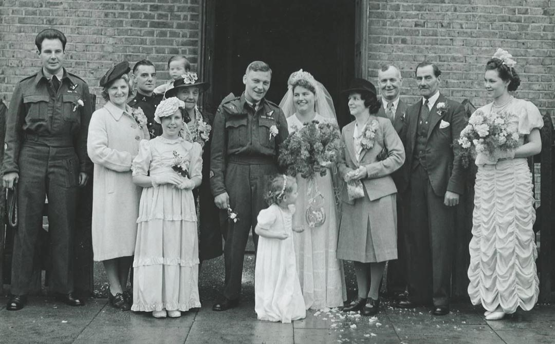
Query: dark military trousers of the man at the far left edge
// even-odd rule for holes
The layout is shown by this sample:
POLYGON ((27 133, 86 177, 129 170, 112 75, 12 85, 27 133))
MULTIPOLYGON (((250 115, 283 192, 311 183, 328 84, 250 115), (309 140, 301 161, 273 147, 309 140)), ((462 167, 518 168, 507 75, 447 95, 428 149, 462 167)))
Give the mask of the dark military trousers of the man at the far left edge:
POLYGON ((18 227, 14 239, 14 295, 31 291, 45 195, 48 196, 50 290, 73 291, 73 233, 79 184, 79 159, 73 147, 54 148, 26 142, 19 153, 18 227))

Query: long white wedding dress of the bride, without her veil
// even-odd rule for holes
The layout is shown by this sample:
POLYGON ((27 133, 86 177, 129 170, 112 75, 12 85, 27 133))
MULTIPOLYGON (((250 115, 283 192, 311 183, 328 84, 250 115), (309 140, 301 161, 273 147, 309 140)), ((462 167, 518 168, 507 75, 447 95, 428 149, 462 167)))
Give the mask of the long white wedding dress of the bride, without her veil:
MULTIPOLYGON (((326 119, 316 114, 320 123, 326 119)), ((297 116, 287 117, 289 133, 302 127, 297 116)), ((302 296, 306 309, 340 307, 347 300, 345 275, 342 261, 337 259, 337 236, 339 235, 338 216, 335 207, 334 186, 331 171, 325 176, 316 176, 314 181, 296 176, 299 196, 295 202, 296 213, 293 215, 293 227, 302 227, 304 231, 294 232, 297 271, 301 282, 302 296), (310 227, 306 220, 310 194, 314 189, 324 197, 322 205, 326 214, 321 226, 310 227), (312 190, 311 190, 312 189, 312 190)))

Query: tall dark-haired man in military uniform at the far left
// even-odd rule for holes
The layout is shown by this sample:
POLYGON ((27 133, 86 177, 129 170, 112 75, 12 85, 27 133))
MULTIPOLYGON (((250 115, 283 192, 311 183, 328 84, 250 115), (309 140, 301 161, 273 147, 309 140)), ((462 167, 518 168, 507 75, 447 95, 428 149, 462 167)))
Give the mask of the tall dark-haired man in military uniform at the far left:
POLYGON ((51 291, 58 301, 83 305, 73 295, 73 236, 77 188, 87 183, 92 171, 87 156, 92 107, 87 83, 63 68, 65 43, 64 34, 56 29, 37 35, 43 67, 16 85, 9 105, 3 185, 17 185, 19 209, 10 311, 23 308, 31 287, 45 195, 52 245, 51 291))

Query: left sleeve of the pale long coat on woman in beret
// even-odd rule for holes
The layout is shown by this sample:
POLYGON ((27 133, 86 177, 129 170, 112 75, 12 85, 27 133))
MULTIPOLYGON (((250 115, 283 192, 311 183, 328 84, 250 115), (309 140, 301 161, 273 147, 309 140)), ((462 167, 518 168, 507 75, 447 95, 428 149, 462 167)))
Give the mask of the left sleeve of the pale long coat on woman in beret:
POLYGON ((129 171, 131 161, 133 160, 131 153, 108 146, 106 117, 106 110, 99 109, 93 113, 93 117, 90 119, 87 138, 87 153, 89 158, 93 163, 102 165, 110 170, 118 172, 129 171))

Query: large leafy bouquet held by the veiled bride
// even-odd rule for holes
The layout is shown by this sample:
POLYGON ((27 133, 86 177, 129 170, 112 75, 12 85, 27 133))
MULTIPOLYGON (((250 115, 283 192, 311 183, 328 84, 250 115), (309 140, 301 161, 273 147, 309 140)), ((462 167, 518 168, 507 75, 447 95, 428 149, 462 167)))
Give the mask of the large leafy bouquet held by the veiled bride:
POLYGON ((317 120, 305 123, 281 144, 279 163, 292 176, 298 173, 306 179, 325 176, 327 166, 337 160, 340 136, 336 124, 317 120))

